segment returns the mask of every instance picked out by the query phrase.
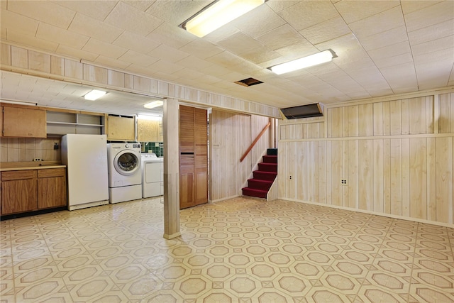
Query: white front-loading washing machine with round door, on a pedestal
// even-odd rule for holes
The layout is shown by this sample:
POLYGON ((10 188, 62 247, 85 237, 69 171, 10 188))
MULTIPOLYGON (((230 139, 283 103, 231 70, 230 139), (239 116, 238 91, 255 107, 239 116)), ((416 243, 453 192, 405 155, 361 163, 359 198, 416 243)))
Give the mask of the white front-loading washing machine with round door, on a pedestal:
POLYGON ((140 143, 107 144, 109 202, 142 199, 140 143))

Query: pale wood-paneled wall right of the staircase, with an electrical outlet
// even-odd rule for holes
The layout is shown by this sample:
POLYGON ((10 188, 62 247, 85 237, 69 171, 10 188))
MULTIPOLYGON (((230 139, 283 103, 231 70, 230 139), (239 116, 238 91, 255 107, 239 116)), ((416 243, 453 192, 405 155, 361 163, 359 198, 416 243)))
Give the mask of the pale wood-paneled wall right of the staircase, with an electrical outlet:
POLYGON ((453 93, 328 107, 319 138, 323 122, 285 121, 279 198, 452 225, 453 107, 453 93))

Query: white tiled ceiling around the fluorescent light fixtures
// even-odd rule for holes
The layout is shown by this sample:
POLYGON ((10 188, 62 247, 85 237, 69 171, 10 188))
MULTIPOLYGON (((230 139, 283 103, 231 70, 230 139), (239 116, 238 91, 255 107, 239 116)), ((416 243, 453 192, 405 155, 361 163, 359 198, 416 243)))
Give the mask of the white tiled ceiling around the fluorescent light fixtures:
MULTIPOLYGON (((269 0, 204 38, 178 27, 210 2, 1 0, 1 39, 279 108, 454 85, 454 1, 269 0), (338 55, 332 62, 285 75, 267 69, 327 49, 338 55), (248 77, 264 83, 233 83, 248 77)), ((52 88, 42 105, 57 105, 60 85, 84 102, 81 85, 36 82, 52 88)), ((30 98, 17 85, 1 90, 30 98)), ((125 100, 103 102, 103 111, 131 110, 125 100)))

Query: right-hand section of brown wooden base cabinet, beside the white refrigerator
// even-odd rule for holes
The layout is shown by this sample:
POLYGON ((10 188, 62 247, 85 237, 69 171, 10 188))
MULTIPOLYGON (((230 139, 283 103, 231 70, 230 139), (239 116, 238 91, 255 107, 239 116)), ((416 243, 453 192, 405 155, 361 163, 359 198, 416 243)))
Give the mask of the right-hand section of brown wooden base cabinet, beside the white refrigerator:
POLYGON ((65 168, 38 171, 38 209, 66 206, 65 168))

